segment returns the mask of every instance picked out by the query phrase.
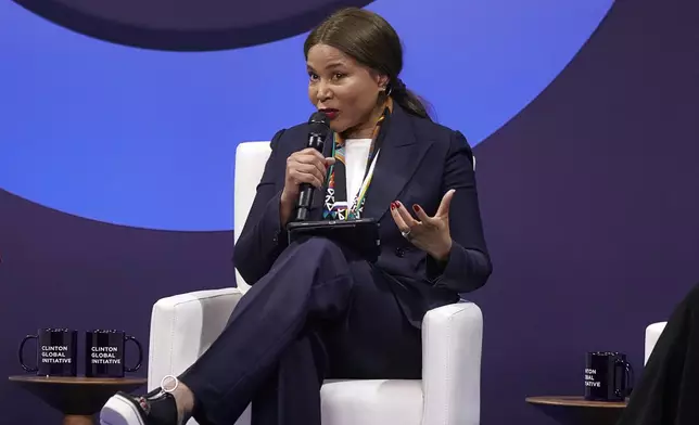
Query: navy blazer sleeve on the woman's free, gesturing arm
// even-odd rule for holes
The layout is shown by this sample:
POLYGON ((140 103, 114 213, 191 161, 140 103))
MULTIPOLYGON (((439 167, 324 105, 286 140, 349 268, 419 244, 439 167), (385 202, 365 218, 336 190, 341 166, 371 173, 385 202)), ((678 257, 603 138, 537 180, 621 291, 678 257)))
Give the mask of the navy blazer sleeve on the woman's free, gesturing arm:
POLYGON ((493 266, 483 235, 473 153, 459 131, 452 134, 442 178, 442 193, 450 189, 456 190, 449 206, 452 250, 446 265, 428 255, 427 274, 435 286, 468 293, 485 284, 493 266))

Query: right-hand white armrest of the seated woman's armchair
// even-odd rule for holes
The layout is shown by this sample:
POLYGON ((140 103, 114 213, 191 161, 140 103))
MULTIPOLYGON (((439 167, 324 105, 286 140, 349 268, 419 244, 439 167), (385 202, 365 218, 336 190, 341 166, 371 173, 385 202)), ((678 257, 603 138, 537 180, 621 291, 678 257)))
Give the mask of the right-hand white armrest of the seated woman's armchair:
POLYGON ((422 325, 422 425, 478 425, 483 314, 461 301, 428 311, 422 325))

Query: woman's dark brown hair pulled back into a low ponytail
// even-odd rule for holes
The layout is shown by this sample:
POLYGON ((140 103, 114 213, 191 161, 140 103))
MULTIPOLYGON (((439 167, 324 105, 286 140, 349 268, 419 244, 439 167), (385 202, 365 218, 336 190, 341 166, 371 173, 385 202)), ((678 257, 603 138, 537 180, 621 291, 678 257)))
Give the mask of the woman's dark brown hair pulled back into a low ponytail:
POLYGON ((398 78, 403 46, 395 29, 378 14, 357 8, 342 9, 317 26, 304 43, 304 55, 316 44, 331 46, 358 63, 389 77, 386 92, 412 115, 429 118, 424 101, 398 78))

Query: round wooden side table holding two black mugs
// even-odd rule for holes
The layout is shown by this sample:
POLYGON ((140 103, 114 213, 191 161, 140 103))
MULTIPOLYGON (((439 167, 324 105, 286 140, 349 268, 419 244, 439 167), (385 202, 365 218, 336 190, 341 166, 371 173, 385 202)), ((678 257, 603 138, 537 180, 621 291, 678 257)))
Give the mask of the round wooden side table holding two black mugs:
POLYGON ((17 375, 10 376, 33 395, 63 413, 63 425, 93 425, 93 416, 117 391, 130 392, 147 383, 145 378, 92 378, 17 375))

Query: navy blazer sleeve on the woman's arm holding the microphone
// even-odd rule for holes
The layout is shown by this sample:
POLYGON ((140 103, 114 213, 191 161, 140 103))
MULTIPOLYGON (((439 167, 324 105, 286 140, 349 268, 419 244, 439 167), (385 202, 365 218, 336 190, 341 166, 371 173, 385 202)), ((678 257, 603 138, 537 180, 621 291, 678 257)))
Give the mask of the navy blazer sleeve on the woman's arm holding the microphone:
POLYGON ((282 237, 279 220, 281 190, 276 184, 280 179, 279 173, 287 169, 287 158, 279 152, 279 141, 284 131, 278 131, 270 141, 271 153, 257 185, 247 220, 233 248, 233 265, 249 285, 267 274, 288 245, 287 237, 282 237))

